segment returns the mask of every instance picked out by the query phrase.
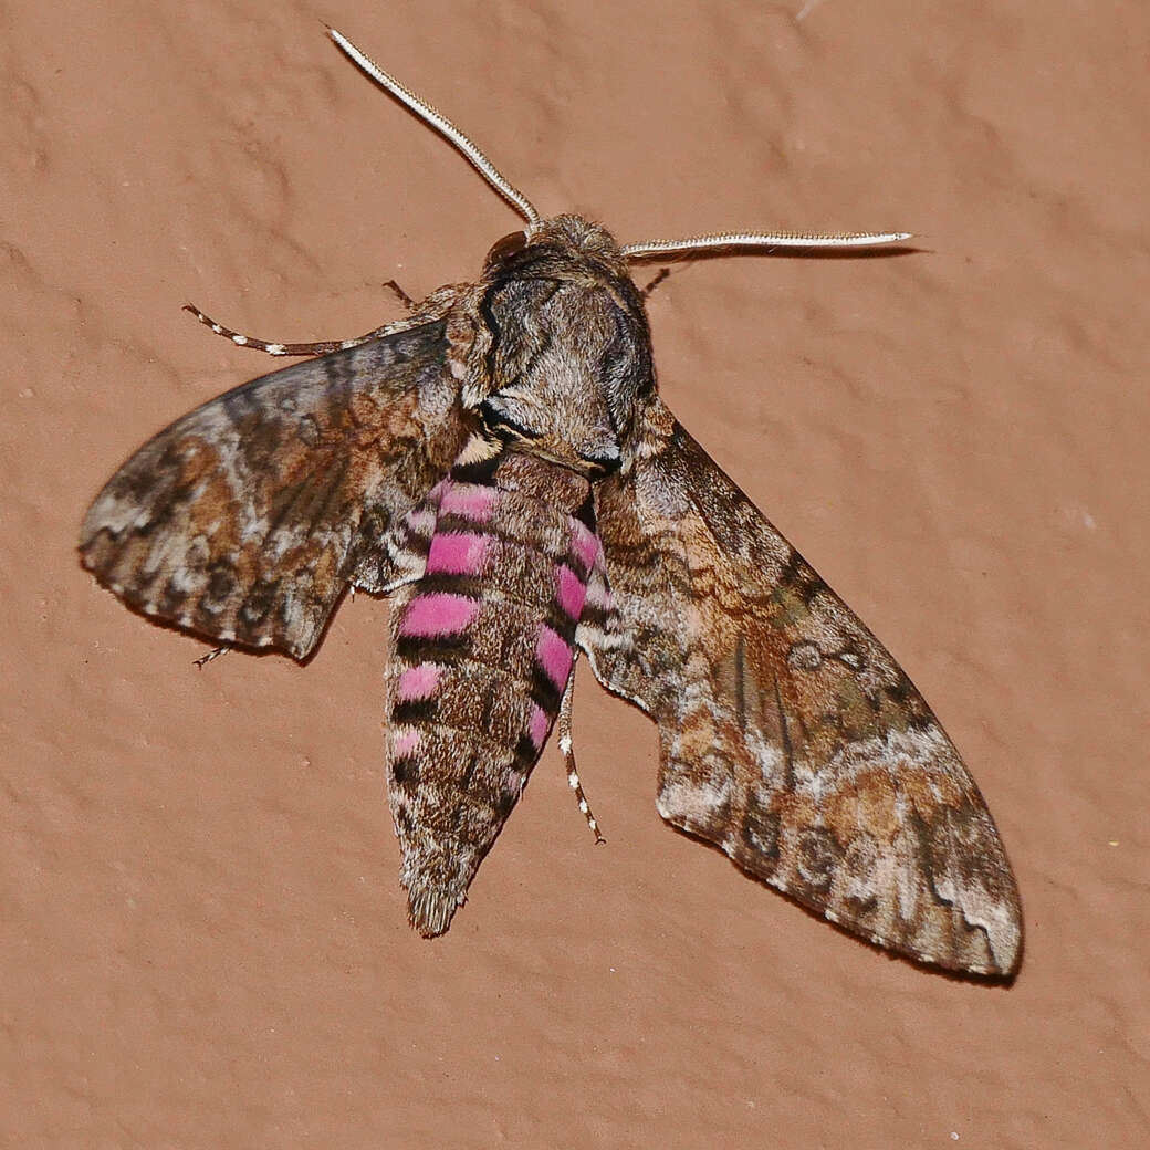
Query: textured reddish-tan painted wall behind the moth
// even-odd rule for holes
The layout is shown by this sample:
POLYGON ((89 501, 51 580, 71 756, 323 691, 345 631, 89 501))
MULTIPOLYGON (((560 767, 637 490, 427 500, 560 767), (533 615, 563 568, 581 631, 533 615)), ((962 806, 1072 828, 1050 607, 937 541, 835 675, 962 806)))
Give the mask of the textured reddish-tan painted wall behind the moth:
POLYGON ((1148 1140, 1144 6, 6 6, 0 1141, 1134 1147, 1148 1140), (146 436, 469 278, 515 217, 325 40, 622 240, 905 228, 705 260, 668 402, 890 646, 1011 853, 1010 988, 888 959, 665 828, 583 668, 451 933, 405 922, 386 607, 307 666, 125 612, 74 545, 146 436), (802 16, 802 18, 799 18, 802 16))

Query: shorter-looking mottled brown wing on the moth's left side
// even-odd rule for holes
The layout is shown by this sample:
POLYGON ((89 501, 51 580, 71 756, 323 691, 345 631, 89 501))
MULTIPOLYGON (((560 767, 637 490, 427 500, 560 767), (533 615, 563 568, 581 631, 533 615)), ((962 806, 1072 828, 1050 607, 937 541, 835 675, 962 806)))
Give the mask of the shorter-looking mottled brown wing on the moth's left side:
POLYGON ((347 583, 397 577, 399 521, 463 442, 443 321, 296 363, 145 444, 80 530, 125 603, 305 658, 347 583))

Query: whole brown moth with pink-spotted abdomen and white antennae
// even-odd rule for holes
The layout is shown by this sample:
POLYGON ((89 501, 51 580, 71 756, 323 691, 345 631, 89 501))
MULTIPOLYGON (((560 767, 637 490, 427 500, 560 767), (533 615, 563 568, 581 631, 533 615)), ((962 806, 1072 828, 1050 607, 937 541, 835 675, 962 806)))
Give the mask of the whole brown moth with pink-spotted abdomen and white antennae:
POLYGON ((197 310, 236 344, 310 358, 136 452, 87 512, 84 565, 147 615, 298 660, 347 588, 393 596, 389 797, 427 937, 463 903, 557 716, 574 770, 582 652, 658 726, 667 821, 872 943, 1013 973, 1019 898, 982 796, 884 647, 664 405, 631 277, 661 255, 905 233, 620 245, 580 216, 543 218, 330 34, 526 227, 476 282, 355 339, 270 344, 197 310))

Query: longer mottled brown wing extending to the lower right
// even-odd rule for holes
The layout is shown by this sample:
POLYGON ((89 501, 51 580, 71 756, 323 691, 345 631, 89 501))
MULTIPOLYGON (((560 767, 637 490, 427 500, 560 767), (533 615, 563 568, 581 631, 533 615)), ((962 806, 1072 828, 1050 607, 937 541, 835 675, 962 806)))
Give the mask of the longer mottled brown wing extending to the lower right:
POLYGON ((613 607, 578 638, 600 682, 659 724, 664 818, 874 943, 1013 972, 1014 877, 958 752, 661 404, 597 516, 613 607))

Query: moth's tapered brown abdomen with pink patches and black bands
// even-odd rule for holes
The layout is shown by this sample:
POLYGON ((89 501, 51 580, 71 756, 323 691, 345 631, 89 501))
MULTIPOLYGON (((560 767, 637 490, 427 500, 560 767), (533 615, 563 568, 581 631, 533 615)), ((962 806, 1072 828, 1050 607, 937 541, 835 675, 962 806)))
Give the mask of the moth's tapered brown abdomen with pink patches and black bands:
POLYGON ((412 922, 447 929, 559 711, 598 561, 590 488, 507 455, 446 480, 392 615, 389 790, 412 922))

